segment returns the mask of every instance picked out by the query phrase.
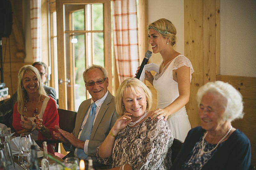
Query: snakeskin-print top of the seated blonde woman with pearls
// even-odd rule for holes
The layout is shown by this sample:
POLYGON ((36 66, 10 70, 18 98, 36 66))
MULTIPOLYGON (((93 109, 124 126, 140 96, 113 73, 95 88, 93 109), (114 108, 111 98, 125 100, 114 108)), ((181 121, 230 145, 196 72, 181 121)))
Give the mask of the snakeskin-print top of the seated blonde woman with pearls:
POLYGON ((100 158, 98 152, 96 156, 100 163, 112 167, 129 164, 136 170, 170 169, 172 142, 167 121, 163 117, 153 121, 148 117, 138 126, 127 126, 118 133, 111 157, 100 158))

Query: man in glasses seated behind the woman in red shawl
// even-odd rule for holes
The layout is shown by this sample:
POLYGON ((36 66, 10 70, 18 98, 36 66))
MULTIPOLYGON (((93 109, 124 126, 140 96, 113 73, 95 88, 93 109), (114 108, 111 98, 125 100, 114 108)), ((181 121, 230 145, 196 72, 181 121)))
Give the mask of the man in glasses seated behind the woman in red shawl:
MULTIPOLYGON (((40 73, 42 83, 45 82, 47 77, 47 66, 43 62, 35 62, 32 66, 36 67, 40 73)), ((57 97, 56 91, 52 87, 48 87, 44 85, 44 90, 48 96, 51 96, 53 100, 56 102, 57 108, 59 105, 57 104, 57 97)), ((12 97, 7 100, 5 103, 0 105, 0 123, 5 124, 7 127, 10 127, 12 130, 12 113, 13 113, 13 106, 17 102, 17 91, 12 95, 12 97)))

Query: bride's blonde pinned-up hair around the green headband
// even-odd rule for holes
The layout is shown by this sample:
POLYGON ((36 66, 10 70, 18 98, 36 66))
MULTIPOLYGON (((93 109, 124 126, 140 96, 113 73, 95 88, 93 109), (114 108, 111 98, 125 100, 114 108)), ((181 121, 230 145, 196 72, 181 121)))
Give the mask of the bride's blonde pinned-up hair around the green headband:
POLYGON ((149 24, 148 26, 153 26, 155 27, 156 29, 158 30, 161 30, 161 31, 168 31, 168 32, 171 32, 171 34, 162 34, 159 32, 159 34, 166 38, 166 39, 169 39, 170 40, 170 43, 171 45, 174 47, 176 46, 176 28, 175 26, 172 24, 171 21, 169 21, 168 19, 165 19, 165 18, 161 18, 161 19, 158 19, 157 21, 155 22, 152 22, 151 24, 149 24))

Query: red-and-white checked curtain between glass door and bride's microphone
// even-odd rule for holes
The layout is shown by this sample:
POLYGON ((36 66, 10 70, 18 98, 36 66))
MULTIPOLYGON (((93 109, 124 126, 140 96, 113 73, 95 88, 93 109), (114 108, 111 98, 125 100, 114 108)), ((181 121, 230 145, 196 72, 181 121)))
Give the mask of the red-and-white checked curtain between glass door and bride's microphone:
POLYGON ((112 0, 114 55, 119 82, 134 77, 139 66, 136 0, 112 0))

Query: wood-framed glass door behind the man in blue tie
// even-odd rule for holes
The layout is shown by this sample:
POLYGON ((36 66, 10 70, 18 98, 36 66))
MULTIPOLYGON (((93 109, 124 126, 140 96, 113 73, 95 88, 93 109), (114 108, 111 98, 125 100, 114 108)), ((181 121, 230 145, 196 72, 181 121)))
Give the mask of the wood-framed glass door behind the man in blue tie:
POLYGON ((110 0, 79 2, 56 1, 59 105, 76 111, 91 97, 83 80, 86 67, 106 67, 112 80, 110 0))

